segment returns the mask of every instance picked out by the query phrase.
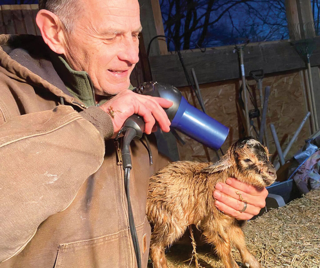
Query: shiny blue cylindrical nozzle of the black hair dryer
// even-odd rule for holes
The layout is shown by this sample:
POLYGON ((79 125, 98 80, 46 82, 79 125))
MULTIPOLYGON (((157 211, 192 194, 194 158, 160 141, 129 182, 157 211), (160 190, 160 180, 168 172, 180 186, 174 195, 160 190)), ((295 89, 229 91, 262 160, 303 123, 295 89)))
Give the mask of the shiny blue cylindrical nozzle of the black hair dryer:
POLYGON ((204 114, 182 97, 171 126, 204 145, 218 150, 226 140, 229 129, 204 114))

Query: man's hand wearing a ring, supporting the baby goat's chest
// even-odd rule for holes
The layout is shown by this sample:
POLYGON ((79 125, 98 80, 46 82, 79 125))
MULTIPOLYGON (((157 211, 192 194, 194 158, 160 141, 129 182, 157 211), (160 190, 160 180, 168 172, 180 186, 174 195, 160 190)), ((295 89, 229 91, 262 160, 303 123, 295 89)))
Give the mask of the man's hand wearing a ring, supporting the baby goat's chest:
POLYGON ((250 220, 266 206, 268 190, 265 187, 257 188, 235 178, 228 178, 226 184, 219 182, 215 188, 213 196, 216 199, 214 203, 217 209, 237 220, 250 220), (244 209, 244 201, 247 203, 247 208, 244 212, 240 212, 244 209))

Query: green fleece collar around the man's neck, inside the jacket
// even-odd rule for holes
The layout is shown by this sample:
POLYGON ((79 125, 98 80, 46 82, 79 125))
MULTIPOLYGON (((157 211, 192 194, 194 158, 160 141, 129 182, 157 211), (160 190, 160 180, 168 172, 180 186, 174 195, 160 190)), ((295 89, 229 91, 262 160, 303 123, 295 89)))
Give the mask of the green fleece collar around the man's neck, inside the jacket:
MULTIPOLYGON (((96 105, 93 85, 88 73, 85 71, 73 70, 61 56, 59 56, 58 60, 55 60, 54 63, 59 70, 60 78, 66 85, 70 94, 83 102, 87 107, 96 105)), ((128 89, 134 90, 135 87, 130 83, 128 89)), ((99 105, 105 103, 108 99, 109 98, 106 97, 106 99, 100 100, 99 105)))

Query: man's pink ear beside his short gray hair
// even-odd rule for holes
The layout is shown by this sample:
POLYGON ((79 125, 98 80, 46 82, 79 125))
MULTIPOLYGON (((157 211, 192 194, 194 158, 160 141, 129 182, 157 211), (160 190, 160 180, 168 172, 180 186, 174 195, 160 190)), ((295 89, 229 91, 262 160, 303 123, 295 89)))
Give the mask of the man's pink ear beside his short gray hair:
POLYGON ((41 9, 36 16, 36 23, 41 31, 44 42, 52 51, 65 54, 64 26, 54 13, 41 9))

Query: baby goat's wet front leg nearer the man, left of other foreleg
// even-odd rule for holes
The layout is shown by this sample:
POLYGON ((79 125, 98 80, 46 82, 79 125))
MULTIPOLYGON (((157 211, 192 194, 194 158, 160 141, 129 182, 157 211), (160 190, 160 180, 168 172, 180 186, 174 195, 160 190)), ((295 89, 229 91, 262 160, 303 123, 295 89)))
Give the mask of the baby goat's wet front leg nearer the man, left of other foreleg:
POLYGON ((238 268, 231 253, 230 239, 223 230, 204 230, 208 243, 215 245, 216 251, 226 268, 238 268))

